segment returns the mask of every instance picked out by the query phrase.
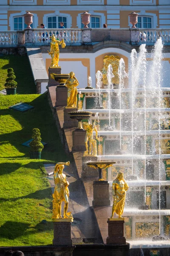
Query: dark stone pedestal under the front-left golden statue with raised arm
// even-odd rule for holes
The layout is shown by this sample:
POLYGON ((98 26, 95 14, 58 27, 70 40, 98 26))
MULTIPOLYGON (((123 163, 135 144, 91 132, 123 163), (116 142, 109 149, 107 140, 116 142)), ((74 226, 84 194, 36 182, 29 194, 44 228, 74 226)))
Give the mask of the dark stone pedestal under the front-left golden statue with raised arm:
POLYGON ((53 245, 72 245, 71 239, 71 220, 57 221, 54 223, 53 245))

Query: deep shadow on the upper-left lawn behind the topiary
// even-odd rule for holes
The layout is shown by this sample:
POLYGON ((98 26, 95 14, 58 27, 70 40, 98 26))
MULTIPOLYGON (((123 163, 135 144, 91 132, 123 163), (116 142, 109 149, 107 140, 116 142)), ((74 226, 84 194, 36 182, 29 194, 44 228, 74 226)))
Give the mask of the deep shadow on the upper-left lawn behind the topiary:
POLYGON ((9 63, 4 65, 2 69, 12 67, 16 76, 17 93, 34 94, 36 93, 36 85, 31 72, 31 67, 27 55, 8 55, 0 56, 0 58, 8 59, 9 63), (16 65, 17 64, 17 65, 16 65), (24 64, 24 66, 23 66, 24 64))

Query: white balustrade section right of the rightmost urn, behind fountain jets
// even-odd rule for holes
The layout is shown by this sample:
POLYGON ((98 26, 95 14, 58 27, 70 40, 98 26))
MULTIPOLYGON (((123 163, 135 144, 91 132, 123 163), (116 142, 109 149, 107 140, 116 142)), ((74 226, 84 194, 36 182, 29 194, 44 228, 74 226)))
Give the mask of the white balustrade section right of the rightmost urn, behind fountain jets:
POLYGON ((140 29, 139 42, 155 43, 158 38, 162 38, 164 43, 170 42, 170 29, 140 29))

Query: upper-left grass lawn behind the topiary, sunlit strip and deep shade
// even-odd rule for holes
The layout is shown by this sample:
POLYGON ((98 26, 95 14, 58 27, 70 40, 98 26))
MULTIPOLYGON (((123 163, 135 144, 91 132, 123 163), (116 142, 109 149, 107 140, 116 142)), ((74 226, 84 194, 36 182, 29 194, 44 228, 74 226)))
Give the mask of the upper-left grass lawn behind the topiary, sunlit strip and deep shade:
POLYGON ((17 81, 17 93, 36 93, 36 86, 31 73, 31 67, 26 55, 0 56, 0 90, 4 89, 7 79, 7 69, 12 67, 17 81))

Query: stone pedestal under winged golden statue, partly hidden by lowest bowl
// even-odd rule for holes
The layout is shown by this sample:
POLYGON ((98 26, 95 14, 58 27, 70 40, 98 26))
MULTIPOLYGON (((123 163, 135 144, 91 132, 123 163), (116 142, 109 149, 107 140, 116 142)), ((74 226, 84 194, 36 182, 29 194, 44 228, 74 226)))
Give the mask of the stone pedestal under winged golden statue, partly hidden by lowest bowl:
POLYGON ((97 157, 92 157, 92 156, 82 157, 82 177, 99 178, 98 170, 87 166, 86 163, 88 162, 97 162, 97 157))

